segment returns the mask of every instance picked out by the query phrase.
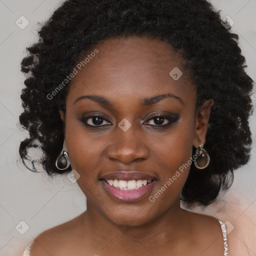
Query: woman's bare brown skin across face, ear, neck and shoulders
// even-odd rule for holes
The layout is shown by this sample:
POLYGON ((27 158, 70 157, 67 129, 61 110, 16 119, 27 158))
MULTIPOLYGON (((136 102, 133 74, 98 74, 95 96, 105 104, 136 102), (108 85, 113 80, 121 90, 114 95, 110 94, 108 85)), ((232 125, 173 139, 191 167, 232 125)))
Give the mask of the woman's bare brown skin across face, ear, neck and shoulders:
MULTIPOLYGON (((40 234, 31 256, 33 251, 34 255, 48 255, 45 251, 50 255, 222 255, 217 219, 180 207, 179 193, 189 168, 154 202, 149 201, 189 160, 192 146, 205 143, 213 101, 195 109, 196 92, 187 70, 182 69, 182 58, 164 41, 118 37, 99 42, 88 53, 94 48, 99 52, 72 79, 66 112, 60 111, 69 159, 80 174, 77 183, 87 209, 40 234), (183 73, 178 80, 169 75, 174 67, 183 73), (180 100, 167 97, 140 105, 143 98, 166 93, 180 100), (82 95, 104 96, 112 106, 90 99, 76 101, 82 95), (150 118, 152 113, 178 114, 179 118, 159 128, 150 118), (103 128, 89 128, 81 119, 93 114, 110 121, 98 124, 105 124, 103 128), (118 127, 123 118, 131 124, 126 131, 118 127), (140 200, 120 202, 104 190, 99 177, 121 169, 145 172, 157 181, 140 200)), ((91 118, 87 123, 95 125, 91 118)))

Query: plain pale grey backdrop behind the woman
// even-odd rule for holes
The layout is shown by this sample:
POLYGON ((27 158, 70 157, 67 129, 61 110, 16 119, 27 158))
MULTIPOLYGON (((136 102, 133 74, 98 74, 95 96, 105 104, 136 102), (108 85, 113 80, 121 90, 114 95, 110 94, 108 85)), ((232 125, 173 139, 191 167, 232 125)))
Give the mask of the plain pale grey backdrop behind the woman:
MULTIPOLYGON (((64 176, 51 180, 44 172, 33 173, 20 163, 18 156, 19 142, 27 135, 17 124, 24 80, 20 61, 25 47, 37 40, 38 22, 47 19, 60 2, 0 0, 0 255, 22 255, 37 234, 86 209, 85 196, 76 182, 64 176), (25 22, 29 23, 21 29, 25 22)), ((234 21, 231 30, 239 35, 246 71, 256 80, 256 0, 211 2, 221 9, 222 18, 228 15, 234 21)), ((256 94, 253 104, 256 105, 256 94)), ((256 255, 255 114, 250 119, 251 160, 235 171, 233 185, 215 203, 204 211, 193 209, 225 222, 240 255, 256 255)))

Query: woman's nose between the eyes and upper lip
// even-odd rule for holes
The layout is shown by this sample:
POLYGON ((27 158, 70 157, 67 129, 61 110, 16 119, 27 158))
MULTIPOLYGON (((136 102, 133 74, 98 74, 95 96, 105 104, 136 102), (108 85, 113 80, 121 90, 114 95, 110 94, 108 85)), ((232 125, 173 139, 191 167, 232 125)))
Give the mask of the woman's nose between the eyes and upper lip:
POLYGON ((131 125, 126 131, 118 126, 115 135, 107 147, 107 156, 112 160, 119 160, 128 164, 137 160, 145 160, 149 157, 149 150, 143 137, 136 132, 135 126, 131 125))

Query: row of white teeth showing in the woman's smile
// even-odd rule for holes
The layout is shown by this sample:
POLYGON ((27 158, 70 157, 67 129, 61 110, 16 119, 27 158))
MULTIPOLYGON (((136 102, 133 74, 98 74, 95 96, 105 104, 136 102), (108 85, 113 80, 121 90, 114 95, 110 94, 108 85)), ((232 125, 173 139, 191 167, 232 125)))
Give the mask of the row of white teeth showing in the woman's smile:
POLYGON ((142 185, 146 185, 147 183, 151 183, 152 180, 118 180, 118 179, 106 179, 106 182, 111 185, 114 186, 116 188, 119 188, 121 190, 133 190, 133 189, 138 189, 139 187, 141 187, 142 185))

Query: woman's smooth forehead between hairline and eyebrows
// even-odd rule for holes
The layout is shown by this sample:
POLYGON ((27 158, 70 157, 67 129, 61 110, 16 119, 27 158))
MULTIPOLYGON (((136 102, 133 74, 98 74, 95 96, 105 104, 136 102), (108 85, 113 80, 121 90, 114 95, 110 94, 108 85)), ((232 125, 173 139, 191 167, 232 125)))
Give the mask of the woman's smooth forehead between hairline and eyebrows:
POLYGON ((138 100, 161 93, 184 98, 194 94, 182 58, 164 41, 146 36, 110 38, 91 47, 81 61, 86 57, 86 64, 75 67, 78 72, 71 81, 69 98, 86 93, 138 100), (94 49, 98 52, 90 55, 94 49), (181 75, 177 80, 172 76, 175 73, 181 75))

